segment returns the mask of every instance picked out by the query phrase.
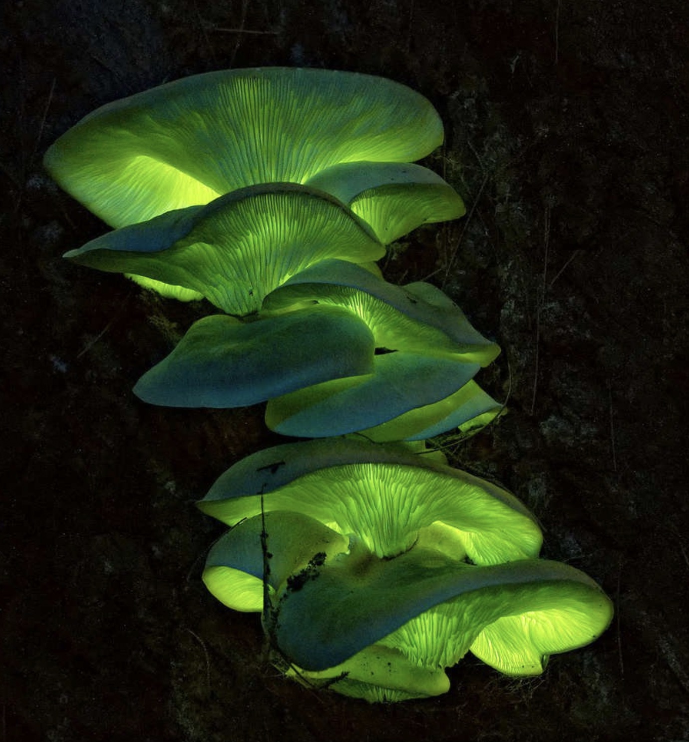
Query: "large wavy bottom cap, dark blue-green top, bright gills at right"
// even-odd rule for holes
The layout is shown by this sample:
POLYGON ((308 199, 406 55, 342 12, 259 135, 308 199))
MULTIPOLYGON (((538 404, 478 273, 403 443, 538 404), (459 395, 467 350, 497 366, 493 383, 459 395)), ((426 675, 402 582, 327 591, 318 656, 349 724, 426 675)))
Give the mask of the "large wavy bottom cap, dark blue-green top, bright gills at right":
POLYGON ((475 566, 432 546, 378 559, 355 542, 274 600, 277 646, 323 672, 385 646, 437 672, 471 650, 501 672, 542 672, 548 654, 595 640, 610 600, 578 570, 539 559, 475 566), (306 626, 305 626, 306 624, 306 626))

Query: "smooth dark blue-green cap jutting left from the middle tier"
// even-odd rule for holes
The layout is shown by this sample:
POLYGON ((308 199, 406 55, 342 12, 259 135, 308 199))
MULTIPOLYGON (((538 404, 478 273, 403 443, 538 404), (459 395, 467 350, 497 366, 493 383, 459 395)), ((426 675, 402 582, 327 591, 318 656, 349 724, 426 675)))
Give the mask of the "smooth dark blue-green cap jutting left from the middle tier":
POLYGON ((211 315, 191 326, 134 393, 171 407, 243 407, 324 379, 370 373, 373 351, 366 324, 334 306, 253 322, 211 315))

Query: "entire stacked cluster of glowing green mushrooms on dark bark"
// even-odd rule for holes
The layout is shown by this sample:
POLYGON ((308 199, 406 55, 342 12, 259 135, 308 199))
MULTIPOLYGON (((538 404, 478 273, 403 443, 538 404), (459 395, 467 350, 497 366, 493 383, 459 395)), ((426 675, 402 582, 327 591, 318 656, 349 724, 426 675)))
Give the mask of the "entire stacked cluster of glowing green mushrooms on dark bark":
POLYGON ((203 579, 262 613, 291 677, 367 700, 445 692, 467 651, 541 672, 612 614, 595 582, 538 559, 541 532, 510 493, 426 448, 501 412, 473 381, 495 343, 435 286, 393 285, 375 264, 464 214, 413 164, 442 139, 432 105, 396 82, 254 68, 99 108, 44 160, 114 228, 65 257, 220 310, 136 395, 265 401, 271 430, 312 439, 234 464, 199 503, 231 527, 203 579))

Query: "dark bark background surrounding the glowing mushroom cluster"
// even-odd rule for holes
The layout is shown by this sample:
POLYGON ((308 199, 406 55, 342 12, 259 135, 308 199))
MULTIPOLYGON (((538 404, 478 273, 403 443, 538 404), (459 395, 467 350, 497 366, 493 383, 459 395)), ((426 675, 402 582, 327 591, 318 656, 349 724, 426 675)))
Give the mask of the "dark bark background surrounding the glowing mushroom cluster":
POLYGON ((0 742, 689 739, 689 7, 683 0, 6 0, 0 16, 0 742), (260 409, 147 407, 133 382, 208 306, 59 257, 105 226, 42 170, 99 105, 192 73, 375 73, 438 108, 427 164, 468 206, 412 234, 503 354, 510 413, 453 462, 503 482, 613 625, 511 680, 465 658, 433 700, 315 694, 200 582, 193 507, 277 441, 260 409))

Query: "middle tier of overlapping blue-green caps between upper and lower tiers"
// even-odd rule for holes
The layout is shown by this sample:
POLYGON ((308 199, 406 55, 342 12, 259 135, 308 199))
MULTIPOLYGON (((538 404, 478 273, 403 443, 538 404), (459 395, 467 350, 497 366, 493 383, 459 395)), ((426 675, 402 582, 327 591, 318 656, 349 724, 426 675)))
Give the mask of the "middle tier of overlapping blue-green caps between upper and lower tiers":
POLYGON ((501 410, 471 381, 498 346, 434 286, 394 286, 363 266, 323 260, 268 295, 263 306, 241 330, 221 315, 194 324, 136 384, 136 394, 177 407, 237 407, 268 399, 266 422, 278 433, 365 431, 376 441, 426 439, 485 423, 501 410), (330 320, 319 309, 340 312, 332 337, 325 334, 330 320), (292 314, 297 316, 289 320, 292 314), (309 326, 311 318, 318 326, 309 326), (371 341, 349 343, 348 333, 371 341), (337 336, 341 348, 334 347, 337 336), (315 359, 331 348, 332 363, 314 373, 315 359), (337 365, 343 356, 348 363, 337 365), (252 402, 238 393, 249 378, 252 402))

